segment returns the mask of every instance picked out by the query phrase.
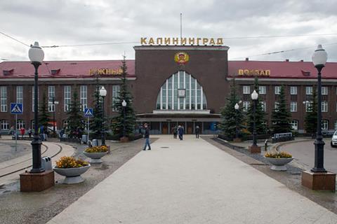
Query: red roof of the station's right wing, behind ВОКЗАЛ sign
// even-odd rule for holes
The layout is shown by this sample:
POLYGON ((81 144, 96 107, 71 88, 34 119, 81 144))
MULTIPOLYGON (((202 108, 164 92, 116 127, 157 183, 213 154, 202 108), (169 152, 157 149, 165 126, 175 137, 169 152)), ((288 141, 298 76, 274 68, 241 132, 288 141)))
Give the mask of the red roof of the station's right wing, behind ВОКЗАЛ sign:
MULTIPOLYGON (((236 78, 251 78, 254 77, 256 72, 261 71, 263 71, 263 73, 260 73, 260 76, 258 76, 260 78, 317 78, 317 69, 312 62, 228 62, 228 76, 235 74, 236 78), (240 69, 246 70, 243 75, 239 74, 240 69), (269 76, 263 76, 263 74, 268 73, 268 70, 270 73, 269 76)), ((326 62, 324 69, 322 69, 322 78, 337 78, 336 62, 326 62)))

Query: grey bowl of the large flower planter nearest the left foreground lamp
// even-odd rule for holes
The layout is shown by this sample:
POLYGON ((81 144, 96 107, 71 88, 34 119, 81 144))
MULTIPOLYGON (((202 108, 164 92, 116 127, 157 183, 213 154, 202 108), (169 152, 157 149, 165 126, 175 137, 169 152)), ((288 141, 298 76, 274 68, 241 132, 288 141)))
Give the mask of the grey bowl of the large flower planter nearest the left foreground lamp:
POLYGON ((65 180, 63 183, 65 184, 73 184, 73 183, 82 183, 84 179, 82 179, 81 174, 84 174, 90 168, 90 164, 85 167, 76 167, 76 168, 58 168, 53 167, 53 170, 60 174, 61 176, 65 176, 65 180))

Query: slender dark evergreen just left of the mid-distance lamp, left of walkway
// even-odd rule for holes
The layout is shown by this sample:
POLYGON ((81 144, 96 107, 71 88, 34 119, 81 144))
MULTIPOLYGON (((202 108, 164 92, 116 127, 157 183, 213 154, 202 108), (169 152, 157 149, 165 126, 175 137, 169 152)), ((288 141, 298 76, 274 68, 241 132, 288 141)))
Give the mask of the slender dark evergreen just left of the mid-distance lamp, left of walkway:
POLYGON ((93 136, 100 138, 102 134, 102 123, 103 123, 103 111, 102 111, 102 99, 100 97, 100 85, 98 83, 98 78, 96 78, 96 89, 93 93, 93 118, 90 123, 90 130, 93 132, 93 136))

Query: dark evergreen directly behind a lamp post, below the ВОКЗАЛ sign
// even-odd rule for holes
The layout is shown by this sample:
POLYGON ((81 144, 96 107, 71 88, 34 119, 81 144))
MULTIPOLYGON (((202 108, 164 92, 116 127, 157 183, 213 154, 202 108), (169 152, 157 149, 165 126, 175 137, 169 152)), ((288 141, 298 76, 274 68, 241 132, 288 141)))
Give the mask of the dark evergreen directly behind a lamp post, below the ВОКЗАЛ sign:
MULTIPOLYGON (((254 81, 254 90, 259 94, 259 87, 258 87, 258 77, 255 77, 254 81)), ((253 133, 253 122, 254 122, 254 113, 253 113, 253 100, 251 101, 251 104, 249 106, 249 109, 247 111, 247 126, 249 132, 253 133)), ((257 102, 256 102, 256 111, 255 111, 255 124, 256 124, 256 133, 258 134, 267 134, 267 120, 265 119, 266 113, 263 111, 262 103, 260 102, 260 94, 258 96, 257 102)))

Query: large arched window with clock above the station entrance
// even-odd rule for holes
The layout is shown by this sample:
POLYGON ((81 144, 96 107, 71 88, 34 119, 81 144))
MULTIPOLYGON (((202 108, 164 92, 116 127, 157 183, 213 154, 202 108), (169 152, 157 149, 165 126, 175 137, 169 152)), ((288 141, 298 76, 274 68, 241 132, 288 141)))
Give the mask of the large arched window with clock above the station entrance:
POLYGON ((156 109, 206 110, 206 96, 197 79, 185 71, 178 71, 161 85, 156 109))

